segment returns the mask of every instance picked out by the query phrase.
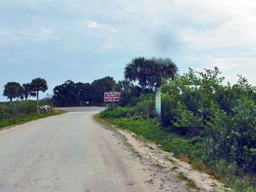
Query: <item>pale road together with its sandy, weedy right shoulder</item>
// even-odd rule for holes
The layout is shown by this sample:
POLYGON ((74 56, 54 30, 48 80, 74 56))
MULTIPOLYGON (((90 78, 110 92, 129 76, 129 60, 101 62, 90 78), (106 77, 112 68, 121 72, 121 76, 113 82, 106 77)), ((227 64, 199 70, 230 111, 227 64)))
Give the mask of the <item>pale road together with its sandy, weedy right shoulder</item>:
POLYGON ((135 135, 71 112, 0 131, 0 191, 219 191, 209 175, 135 135))

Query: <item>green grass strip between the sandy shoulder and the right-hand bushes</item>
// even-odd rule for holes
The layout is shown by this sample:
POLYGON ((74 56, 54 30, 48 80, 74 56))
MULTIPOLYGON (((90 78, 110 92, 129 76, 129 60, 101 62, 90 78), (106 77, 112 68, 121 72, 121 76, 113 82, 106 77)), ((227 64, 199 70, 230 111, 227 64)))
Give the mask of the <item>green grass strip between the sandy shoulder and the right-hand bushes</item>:
MULTIPOLYGON (((104 111, 101 113, 104 113, 104 111)), ((253 183, 256 183, 256 181, 249 182, 254 179, 246 178, 243 175, 234 175, 233 172, 229 170, 230 167, 227 164, 219 162, 215 167, 206 166, 201 159, 202 156, 204 156, 204 150, 199 142, 197 142, 198 138, 189 139, 175 133, 166 132, 159 126, 157 119, 100 117, 101 114, 95 116, 95 119, 99 123, 108 124, 108 126, 113 124, 121 129, 134 132, 138 135, 137 137, 142 137, 156 144, 161 144, 163 150, 172 152, 174 157, 181 159, 183 162, 190 163, 193 169, 212 175, 215 179, 225 183, 226 187, 230 187, 234 191, 256 191, 255 186, 253 186, 253 183)))

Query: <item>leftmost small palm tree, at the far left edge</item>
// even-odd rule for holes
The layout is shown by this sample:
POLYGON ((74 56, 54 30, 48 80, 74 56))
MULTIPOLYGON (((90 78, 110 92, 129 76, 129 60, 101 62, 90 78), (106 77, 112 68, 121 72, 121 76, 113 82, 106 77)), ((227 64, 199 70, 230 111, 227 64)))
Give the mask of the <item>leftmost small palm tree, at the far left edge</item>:
POLYGON ((22 95, 22 87, 17 82, 8 82, 6 85, 4 85, 4 93, 3 95, 10 99, 12 102, 15 98, 23 98, 22 95))

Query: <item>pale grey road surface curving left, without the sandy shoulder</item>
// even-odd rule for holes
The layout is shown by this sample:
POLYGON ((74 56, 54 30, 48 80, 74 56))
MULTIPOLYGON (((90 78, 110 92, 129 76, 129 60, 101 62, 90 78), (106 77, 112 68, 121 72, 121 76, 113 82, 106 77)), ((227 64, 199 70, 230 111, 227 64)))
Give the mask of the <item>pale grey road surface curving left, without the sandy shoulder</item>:
POLYGON ((157 191, 122 141, 93 121, 102 109, 68 108, 0 131, 0 191, 157 191))

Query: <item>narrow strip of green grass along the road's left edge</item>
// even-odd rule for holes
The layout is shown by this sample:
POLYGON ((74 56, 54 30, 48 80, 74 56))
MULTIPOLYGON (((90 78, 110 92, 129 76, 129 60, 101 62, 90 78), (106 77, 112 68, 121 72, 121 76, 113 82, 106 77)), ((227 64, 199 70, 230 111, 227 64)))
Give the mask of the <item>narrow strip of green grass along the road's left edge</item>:
POLYGON ((35 113, 35 114, 29 114, 22 118, 13 117, 13 118, 9 118, 9 119, 3 119, 0 121, 0 130, 5 129, 6 127, 21 125, 21 124, 24 124, 24 123, 27 123, 30 121, 35 121, 37 119, 50 117, 53 115, 60 115, 60 114, 64 114, 64 113, 67 113, 67 111, 51 110, 50 114, 46 114, 46 113, 36 114, 35 113))

